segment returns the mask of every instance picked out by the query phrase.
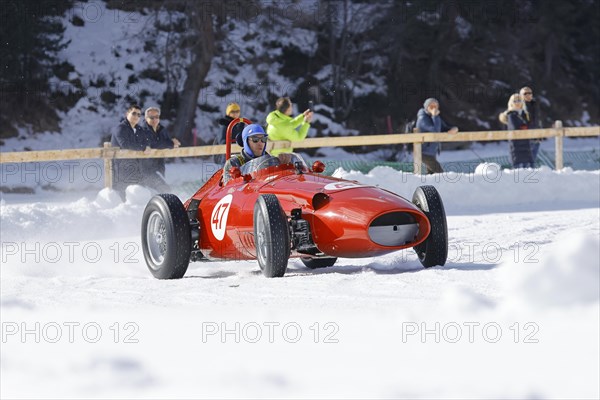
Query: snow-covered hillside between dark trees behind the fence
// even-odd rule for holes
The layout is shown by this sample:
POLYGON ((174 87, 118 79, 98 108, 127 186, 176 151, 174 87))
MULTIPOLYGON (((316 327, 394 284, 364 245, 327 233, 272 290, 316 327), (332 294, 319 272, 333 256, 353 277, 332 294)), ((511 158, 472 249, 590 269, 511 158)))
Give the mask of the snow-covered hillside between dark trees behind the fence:
MULTIPOLYGON (((303 7, 312 8, 312 3, 305 2, 303 7)), ((279 3, 265 4, 283 7, 279 3)), ((143 6, 139 11, 124 11, 109 8, 102 1, 76 2, 63 18, 67 45, 58 54, 61 60, 73 65, 74 71, 65 81, 54 77, 51 85, 65 94, 76 93, 79 100, 68 111, 59 111, 59 132, 33 134, 23 128, 19 137, 3 140, 2 151, 100 147, 124 117, 129 104, 139 103, 144 109, 161 106, 166 91, 181 92, 186 65, 190 62, 189 49, 172 49, 182 32, 164 30, 178 18, 182 18, 180 13, 153 11, 143 6), (74 24, 74 17, 83 23, 74 24), (155 28, 159 22, 163 30, 155 28), (172 65, 165 66, 169 62, 165 54, 169 51, 173 52, 172 65), (173 87, 167 85, 166 80, 170 79, 165 76, 167 72, 176 77, 171 78, 173 87)), ((265 123, 274 106, 273 97, 297 90, 299 82, 279 72, 281 61, 277 57, 281 57, 282 47, 310 54, 316 47, 316 38, 314 32, 306 29, 290 31, 286 21, 259 13, 250 21, 221 27, 228 39, 222 44, 224 48, 219 47, 198 98, 202 111, 196 114, 194 126, 199 144, 212 144, 220 133, 216 121, 223 116, 229 102, 242 106, 242 116, 265 123), (269 29, 257 36, 256 30, 266 25, 269 29), (277 42, 279 46, 272 45, 277 42)), ((328 126, 328 132, 356 134, 334 123, 328 116, 329 107, 322 104, 318 107, 321 112, 315 120, 328 126)), ((168 117, 161 121, 165 126, 172 122, 168 117)), ((314 133, 313 129, 311 135, 314 133)))

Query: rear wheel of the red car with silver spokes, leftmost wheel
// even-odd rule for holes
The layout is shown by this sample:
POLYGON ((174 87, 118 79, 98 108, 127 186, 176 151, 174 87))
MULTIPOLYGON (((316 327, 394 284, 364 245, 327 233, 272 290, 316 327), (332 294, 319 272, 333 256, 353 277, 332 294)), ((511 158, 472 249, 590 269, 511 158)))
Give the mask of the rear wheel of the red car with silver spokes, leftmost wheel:
POLYGON ((180 279, 192 252, 190 221, 179 198, 159 194, 148 202, 142 217, 142 250, 157 279, 180 279))

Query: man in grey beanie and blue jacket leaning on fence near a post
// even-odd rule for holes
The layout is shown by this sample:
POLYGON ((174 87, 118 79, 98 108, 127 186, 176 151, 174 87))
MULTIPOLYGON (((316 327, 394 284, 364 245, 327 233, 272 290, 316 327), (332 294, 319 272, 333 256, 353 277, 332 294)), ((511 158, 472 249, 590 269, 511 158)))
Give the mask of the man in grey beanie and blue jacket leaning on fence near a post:
MULTIPOLYGON (((457 127, 448 125, 440 117, 440 103, 434 98, 425 100, 423 108, 417 113, 417 129, 422 133, 458 132, 457 127)), ((423 143, 421 151, 423 155, 423 164, 427 167, 428 174, 444 172, 444 169, 436 158, 440 151, 440 144, 438 142, 423 143)))

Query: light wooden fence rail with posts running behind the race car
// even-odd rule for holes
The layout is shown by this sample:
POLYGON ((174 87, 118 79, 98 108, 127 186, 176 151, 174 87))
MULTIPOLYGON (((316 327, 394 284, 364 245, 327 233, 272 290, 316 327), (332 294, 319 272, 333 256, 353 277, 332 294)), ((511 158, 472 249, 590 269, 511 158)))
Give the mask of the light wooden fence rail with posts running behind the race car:
MULTIPOLYGON (((449 133, 410 133, 387 135, 363 135, 343 137, 321 137, 295 142, 296 149, 319 147, 374 146, 386 144, 413 144, 413 162, 415 174, 421 173, 421 145, 427 142, 473 142, 515 139, 555 138, 556 169, 563 168, 563 138, 600 136, 600 126, 582 128, 564 128, 561 121, 556 121, 554 128, 530 129, 519 131, 477 131, 449 133)), ((236 145, 237 146, 237 145, 236 145)), ((177 149, 133 151, 120 150, 104 143, 104 148, 0 152, 0 163, 26 163, 60 160, 103 159, 104 183, 112 187, 112 163, 115 158, 170 158, 201 157, 225 154, 225 145, 180 147, 177 149)))

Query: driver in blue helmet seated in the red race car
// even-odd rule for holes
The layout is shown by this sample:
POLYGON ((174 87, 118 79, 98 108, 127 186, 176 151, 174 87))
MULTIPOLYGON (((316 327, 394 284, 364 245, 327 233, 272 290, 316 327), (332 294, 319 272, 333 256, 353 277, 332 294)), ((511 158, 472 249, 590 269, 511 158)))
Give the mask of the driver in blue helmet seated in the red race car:
MULTIPOLYGON (((223 183, 227 183, 231 176, 229 170, 233 167, 241 167, 248 161, 262 157, 267 153, 267 140, 269 135, 265 133, 262 126, 258 124, 251 124, 244 128, 241 135, 238 135, 236 140, 237 144, 243 146, 242 152, 232 156, 223 167, 223 183)), ((279 155, 279 160, 282 164, 289 163, 291 161, 290 154, 283 153, 279 155)))

